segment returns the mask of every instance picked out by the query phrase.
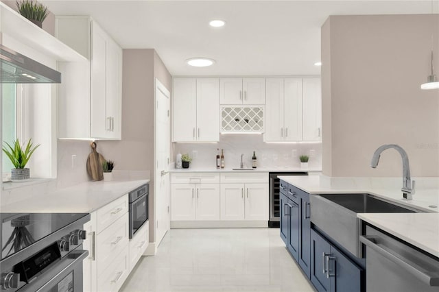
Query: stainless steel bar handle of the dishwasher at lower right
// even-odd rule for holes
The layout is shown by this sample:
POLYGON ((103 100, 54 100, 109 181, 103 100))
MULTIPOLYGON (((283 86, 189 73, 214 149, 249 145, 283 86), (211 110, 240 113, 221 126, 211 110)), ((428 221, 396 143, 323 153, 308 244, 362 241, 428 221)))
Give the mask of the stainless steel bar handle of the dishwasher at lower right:
POLYGON ((381 256, 388 258, 388 260, 391 260, 396 265, 399 265, 399 267, 401 267, 401 269, 405 270, 407 273, 411 273, 413 276, 415 276, 425 284, 428 284, 429 286, 439 286, 439 275, 435 273, 434 276, 431 276, 428 274, 428 271, 418 269, 416 267, 416 263, 413 263, 412 265, 411 261, 403 258, 402 255, 393 254, 392 252, 383 248, 384 245, 380 246, 380 244, 377 242, 377 239, 379 240, 379 236, 375 235, 359 236, 359 241, 361 241, 361 243, 364 243, 381 256))

